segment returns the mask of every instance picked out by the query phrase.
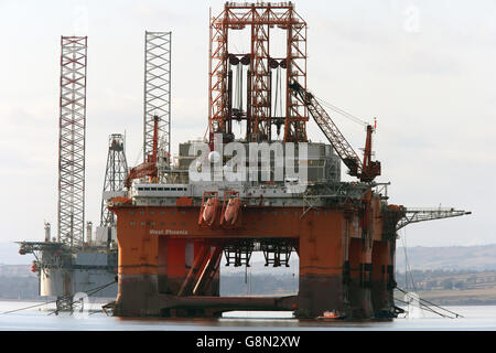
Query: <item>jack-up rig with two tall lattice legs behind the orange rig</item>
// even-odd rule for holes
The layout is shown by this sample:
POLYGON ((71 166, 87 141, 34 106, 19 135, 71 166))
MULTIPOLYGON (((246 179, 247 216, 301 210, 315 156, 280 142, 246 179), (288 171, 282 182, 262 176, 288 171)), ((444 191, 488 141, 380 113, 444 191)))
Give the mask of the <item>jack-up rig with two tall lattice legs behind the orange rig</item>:
MULTIPOLYGON (((144 35, 144 150, 151 150, 153 116, 160 118, 164 141, 170 140, 170 32, 144 35), (153 114, 153 116, 151 116, 153 114)), ((87 36, 61 38, 61 97, 58 139, 58 229, 51 237, 45 223, 44 242, 18 242, 19 254, 33 254, 31 270, 39 275, 40 296, 56 297, 56 312, 72 311, 78 292, 93 297, 117 296, 116 215, 107 199, 125 194, 129 173, 125 138, 108 140, 100 225, 85 227, 85 135, 87 36), (86 228, 86 229, 85 229, 86 228), (86 231, 86 233, 85 233, 86 231)))

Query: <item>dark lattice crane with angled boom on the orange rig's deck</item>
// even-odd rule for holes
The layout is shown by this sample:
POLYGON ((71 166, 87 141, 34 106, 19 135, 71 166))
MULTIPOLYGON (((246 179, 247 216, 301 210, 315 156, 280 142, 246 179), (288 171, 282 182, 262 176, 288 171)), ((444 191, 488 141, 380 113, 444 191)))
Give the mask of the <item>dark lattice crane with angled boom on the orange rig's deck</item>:
POLYGON ((313 119, 321 128, 322 132, 324 132, 327 140, 333 146, 336 153, 339 156, 345 165, 349 169, 349 175, 357 176, 360 181, 370 182, 377 175, 380 175, 380 162, 371 161, 371 132, 374 131, 371 126, 367 126, 367 140, 365 146, 365 156, 364 162, 360 161, 360 158, 345 139, 343 133, 341 133, 337 126, 331 119, 325 109, 321 106, 321 104, 315 99, 315 97, 304 89, 296 82, 290 85, 291 89, 294 89, 313 119))

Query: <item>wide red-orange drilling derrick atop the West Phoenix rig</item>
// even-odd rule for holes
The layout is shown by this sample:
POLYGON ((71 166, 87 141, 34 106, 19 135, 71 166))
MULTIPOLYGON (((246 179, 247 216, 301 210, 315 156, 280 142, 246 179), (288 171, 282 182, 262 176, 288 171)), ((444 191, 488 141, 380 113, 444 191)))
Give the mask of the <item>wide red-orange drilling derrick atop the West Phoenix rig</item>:
MULTIPOLYGON (((235 47, 235 45, 234 45, 235 47)), ((224 11, 211 17, 209 49, 209 141, 222 133, 231 141, 233 121, 246 121, 248 141, 271 141, 272 127, 277 135, 283 126, 284 142, 306 141, 306 107, 299 95, 289 88, 296 82, 306 87, 306 23, 289 3, 226 2, 224 11), (250 52, 236 53, 228 45, 233 31, 250 31, 250 52), (283 57, 270 55, 270 33, 285 31, 283 57), (246 68, 246 107, 233 106, 234 82, 244 79, 246 68), (284 85, 279 99, 284 97, 283 116, 273 116, 277 94, 272 73, 285 69, 284 85), (236 68, 236 77, 233 68, 236 68)), ((282 78, 281 78, 282 81, 282 78)), ((277 82, 277 81, 276 81, 277 82)), ((242 84, 239 87, 244 87, 242 84)))

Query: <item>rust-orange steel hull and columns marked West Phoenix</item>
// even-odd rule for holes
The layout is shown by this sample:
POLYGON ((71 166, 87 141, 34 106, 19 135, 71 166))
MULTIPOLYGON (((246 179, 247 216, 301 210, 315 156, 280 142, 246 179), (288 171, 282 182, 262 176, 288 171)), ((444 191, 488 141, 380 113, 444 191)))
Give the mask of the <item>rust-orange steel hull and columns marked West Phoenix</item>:
POLYGON ((370 222, 360 212, 244 207, 235 228, 198 225, 198 206, 118 205, 119 286, 116 315, 218 315, 227 310, 291 310, 316 318, 393 313, 395 242, 379 199, 370 222), (285 298, 219 297, 219 254, 240 239, 285 239, 299 255, 299 293, 285 298), (220 252, 219 252, 220 250, 220 252), (214 264, 214 265, 213 265, 214 264), (200 288, 200 289, 198 289, 200 288))

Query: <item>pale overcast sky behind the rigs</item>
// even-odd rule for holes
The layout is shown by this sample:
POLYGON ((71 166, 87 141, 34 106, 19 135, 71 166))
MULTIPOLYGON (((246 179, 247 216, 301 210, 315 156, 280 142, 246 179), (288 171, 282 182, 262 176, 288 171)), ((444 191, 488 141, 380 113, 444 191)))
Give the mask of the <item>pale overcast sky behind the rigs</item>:
MULTIPOLYGON (((496 243, 496 1, 293 2, 309 24, 309 88, 378 117, 390 203, 473 212, 409 226, 407 245, 496 243)), ((0 242, 42 240, 44 220, 56 234, 61 35, 88 35, 86 220, 97 224, 108 135, 126 131, 129 164, 141 160, 144 31, 173 32, 176 151, 205 132, 208 9, 223 3, 0 0, 0 242)), ((334 120, 359 151, 364 129, 334 120)), ((309 137, 325 140, 313 121, 309 137)))

